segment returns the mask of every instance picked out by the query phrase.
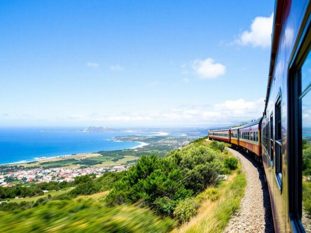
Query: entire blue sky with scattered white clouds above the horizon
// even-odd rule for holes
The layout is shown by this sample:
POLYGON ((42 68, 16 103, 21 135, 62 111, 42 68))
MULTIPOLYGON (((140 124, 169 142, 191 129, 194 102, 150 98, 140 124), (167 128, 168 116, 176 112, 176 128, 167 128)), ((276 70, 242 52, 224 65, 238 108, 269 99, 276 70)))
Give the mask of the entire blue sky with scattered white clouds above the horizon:
POLYGON ((0 126, 260 117, 273 1, 1 1, 0 126))

